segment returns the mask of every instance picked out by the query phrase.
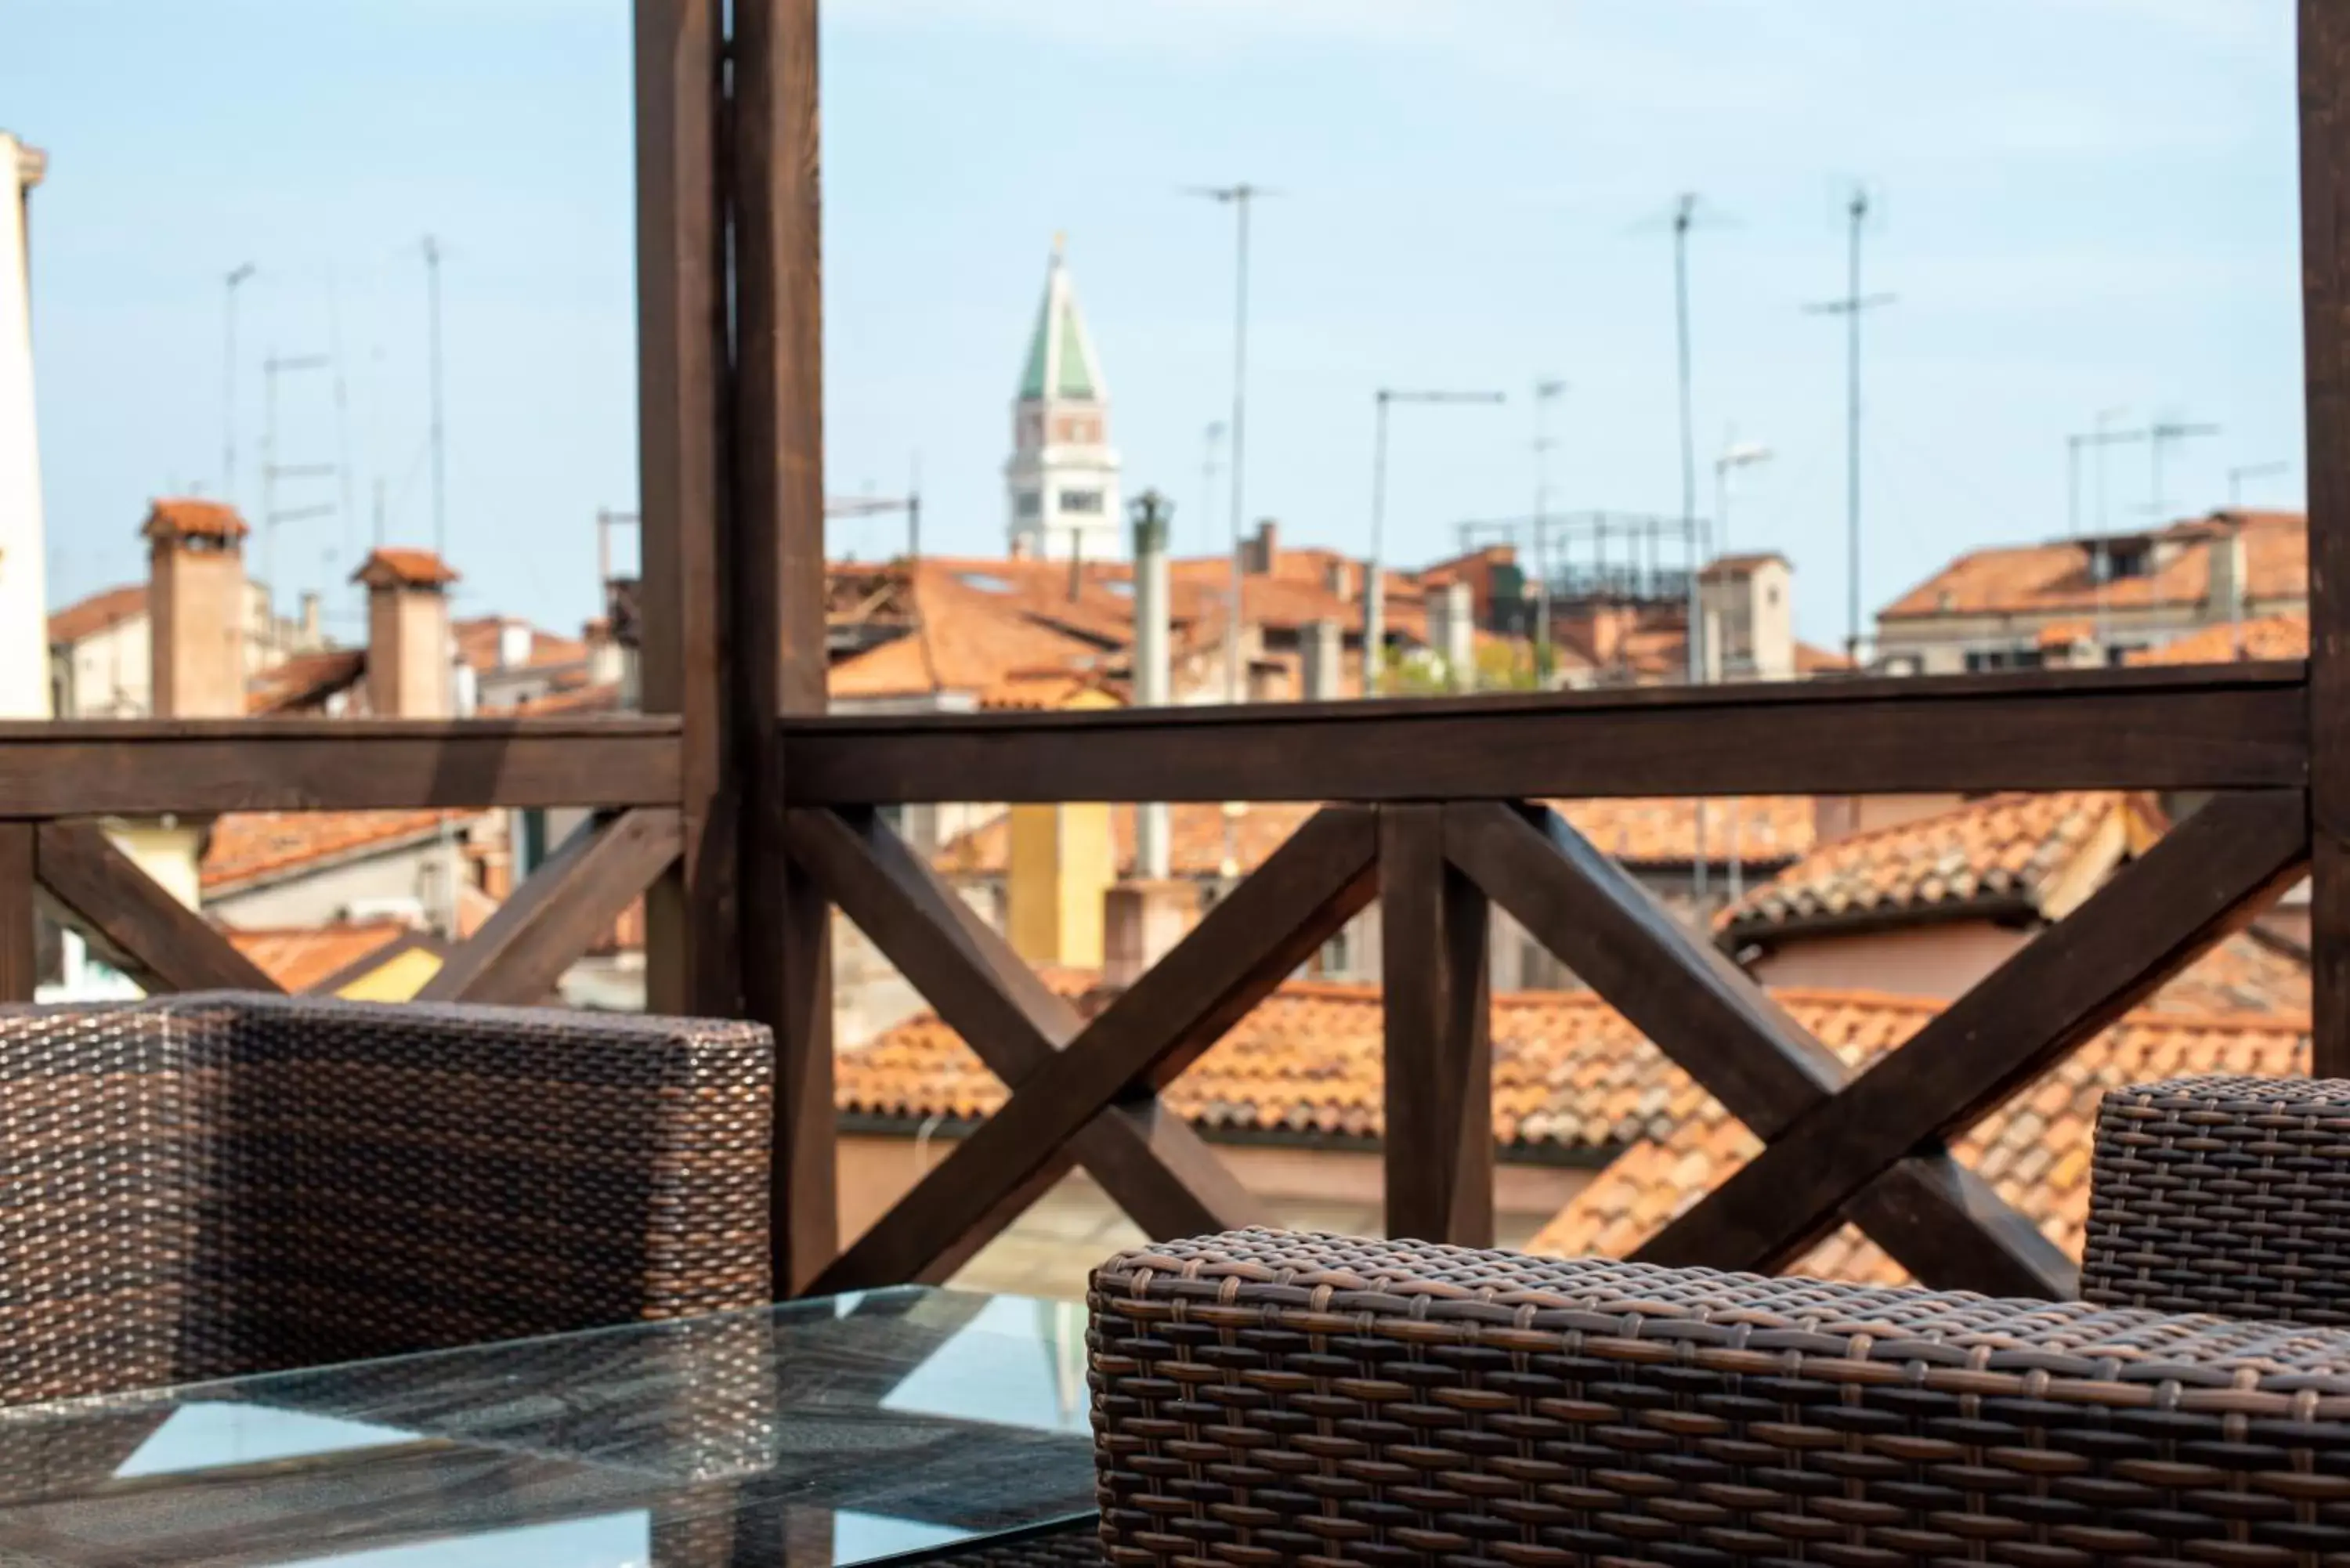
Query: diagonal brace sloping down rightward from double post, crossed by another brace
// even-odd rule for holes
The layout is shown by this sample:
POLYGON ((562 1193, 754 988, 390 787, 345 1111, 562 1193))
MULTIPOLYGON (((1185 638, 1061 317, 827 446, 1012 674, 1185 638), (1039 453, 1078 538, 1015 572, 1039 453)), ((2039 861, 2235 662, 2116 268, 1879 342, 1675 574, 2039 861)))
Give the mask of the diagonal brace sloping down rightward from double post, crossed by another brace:
MULTIPOLYGON (((1079 1011, 872 811, 792 811, 790 842, 825 896, 1006 1084, 1027 1081, 1083 1030, 1079 1011)), ((1198 1133, 1161 1114, 1156 1098, 1102 1112, 1069 1140, 1069 1152, 1156 1241, 1267 1220, 1198 1133)), ((987 1234, 966 1237, 964 1248, 985 1246, 1020 1208, 992 1213, 980 1227, 987 1234)))

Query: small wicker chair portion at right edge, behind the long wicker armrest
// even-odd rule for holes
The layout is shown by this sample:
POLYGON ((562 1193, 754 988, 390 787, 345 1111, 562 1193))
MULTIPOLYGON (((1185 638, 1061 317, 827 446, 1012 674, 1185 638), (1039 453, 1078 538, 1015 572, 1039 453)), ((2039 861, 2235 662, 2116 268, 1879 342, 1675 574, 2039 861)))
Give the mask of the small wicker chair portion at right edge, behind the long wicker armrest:
POLYGON ((2350 1084, 2188 1077, 2110 1091, 2082 1295, 2350 1324, 2350 1084))

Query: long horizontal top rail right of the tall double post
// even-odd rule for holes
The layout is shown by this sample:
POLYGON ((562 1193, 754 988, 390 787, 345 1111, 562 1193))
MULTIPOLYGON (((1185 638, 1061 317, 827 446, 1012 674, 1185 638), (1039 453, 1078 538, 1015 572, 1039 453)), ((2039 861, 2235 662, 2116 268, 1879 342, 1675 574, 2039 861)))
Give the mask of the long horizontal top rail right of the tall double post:
POLYGON ((2298 788, 2298 665, 792 722, 792 804, 2298 788))

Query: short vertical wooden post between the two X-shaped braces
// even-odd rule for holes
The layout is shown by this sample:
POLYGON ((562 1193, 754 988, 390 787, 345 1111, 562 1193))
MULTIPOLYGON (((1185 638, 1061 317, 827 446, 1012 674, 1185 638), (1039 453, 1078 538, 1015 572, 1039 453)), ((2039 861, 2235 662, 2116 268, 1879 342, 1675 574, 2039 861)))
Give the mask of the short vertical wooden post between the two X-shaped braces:
POLYGON ((1492 1246, 1485 893, 1445 860, 1443 806, 1379 811, 1386 1234, 1492 1246))

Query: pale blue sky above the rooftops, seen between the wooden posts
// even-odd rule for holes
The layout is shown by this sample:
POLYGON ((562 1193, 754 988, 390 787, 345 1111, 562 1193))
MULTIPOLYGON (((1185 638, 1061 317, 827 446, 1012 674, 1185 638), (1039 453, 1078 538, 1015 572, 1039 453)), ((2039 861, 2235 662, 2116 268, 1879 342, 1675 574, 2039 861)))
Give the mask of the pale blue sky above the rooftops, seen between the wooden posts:
MULTIPOLYGON (((254 261, 240 501, 258 505, 258 362, 280 461, 348 449, 345 517, 280 531, 287 590, 371 536, 430 541, 425 282, 446 299, 449 524, 463 609, 595 611, 595 510, 634 503, 625 0, 21 0, 0 125, 45 146, 35 348, 52 599, 139 576, 146 496, 221 484, 221 275, 254 261), (329 559, 331 557, 331 559, 329 559)), ((1777 461, 1732 531, 1798 567, 1805 635, 1842 632, 1840 202, 1880 195, 1868 287, 1868 545, 1885 602, 1950 552, 2066 529, 2063 437, 2223 425, 2169 463, 2171 510, 2289 458, 2301 327, 2287 0, 834 0, 825 16, 827 463, 895 491, 926 543, 1001 550, 999 465, 1055 230, 1114 395, 1128 489, 1201 503, 1229 402, 1231 223, 1180 195, 1250 179, 1248 510, 1361 548, 1370 393, 1492 386, 1398 414, 1391 555, 1532 496, 1537 376, 1560 505, 1678 505, 1668 240, 1699 190, 1699 449, 1777 461)), ((1711 487, 1701 487, 1711 489, 1711 487)), ((2148 501, 2143 449, 2110 522, 2148 501)), ((282 508, 341 487, 287 482, 282 508)), ((886 555, 891 522, 834 552, 886 555)))

